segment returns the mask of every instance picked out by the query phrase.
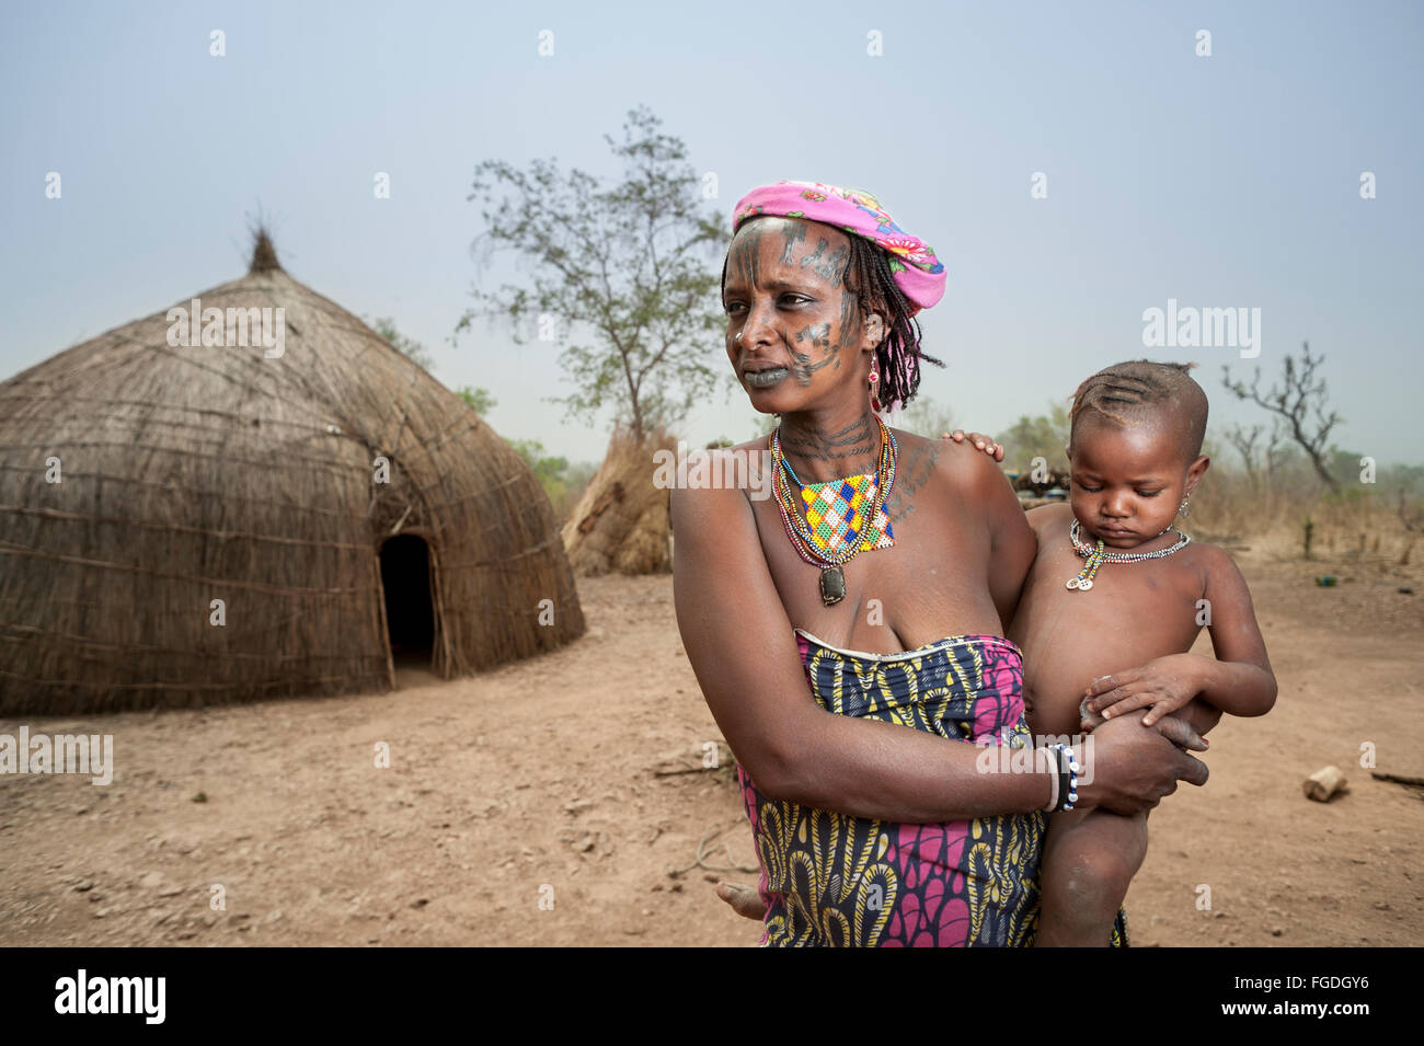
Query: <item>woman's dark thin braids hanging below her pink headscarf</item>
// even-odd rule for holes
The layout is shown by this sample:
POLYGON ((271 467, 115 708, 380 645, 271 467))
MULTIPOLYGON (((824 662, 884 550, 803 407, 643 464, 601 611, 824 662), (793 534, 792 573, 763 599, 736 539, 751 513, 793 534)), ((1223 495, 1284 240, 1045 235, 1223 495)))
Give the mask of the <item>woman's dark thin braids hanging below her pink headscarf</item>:
MULTIPOLYGON (((755 215, 746 222, 775 216, 755 215)), ((742 222, 739 228, 745 228, 746 222, 742 222)), ((823 225, 823 222, 815 223, 823 225)), ((837 232, 844 231, 837 229, 837 232)), ((893 410, 896 406, 903 407, 914 398, 920 389, 920 361, 933 363, 936 367, 943 367, 944 361, 926 354, 920 347, 920 324, 913 315, 914 306, 900 290, 900 285, 894 282, 894 273, 890 270, 890 255, 884 248, 871 243, 864 236, 853 232, 844 232, 844 236, 850 241, 850 258, 842 273, 844 292, 856 296, 862 323, 873 312, 880 313, 886 320, 886 336, 876 347, 876 370, 880 371, 876 397, 886 410, 893 410)), ((728 259, 723 259, 723 292, 726 290, 726 263, 728 259)))

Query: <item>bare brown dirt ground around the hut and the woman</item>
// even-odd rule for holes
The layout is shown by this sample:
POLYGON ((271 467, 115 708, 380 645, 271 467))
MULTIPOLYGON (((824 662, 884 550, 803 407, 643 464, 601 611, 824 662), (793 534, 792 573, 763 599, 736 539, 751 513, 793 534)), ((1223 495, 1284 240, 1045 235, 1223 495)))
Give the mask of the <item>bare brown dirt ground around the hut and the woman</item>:
MULTIPOLYGON (((1420 571, 1237 558, 1280 697, 1223 720, 1209 784, 1153 813, 1134 944, 1424 945, 1424 791, 1360 767, 1371 741, 1380 770, 1424 777, 1420 571), (1307 801, 1330 763, 1349 793, 1307 801)), ((699 768, 719 734, 671 579, 580 595, 587 638, 477 677, 24 720, 114 734, 117 768, 0 776, 0 945, 755 944, 712 887, 755 875, 696 867, 709 834, 705 865, 755 858, 728 766, 699 768)))

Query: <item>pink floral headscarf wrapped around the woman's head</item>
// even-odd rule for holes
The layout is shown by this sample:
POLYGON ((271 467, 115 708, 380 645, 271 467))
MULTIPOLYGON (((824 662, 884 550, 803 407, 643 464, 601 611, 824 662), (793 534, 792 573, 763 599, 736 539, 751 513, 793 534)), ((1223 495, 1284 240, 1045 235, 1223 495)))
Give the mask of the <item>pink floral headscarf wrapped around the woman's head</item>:
MULTIPOLYGON (((752 189, 732 212, 733 235, 748 218, 780 215, 824 222, 869 239, 890 255, 890 272, 914 312, 928 309, 944 296, 944 265, 918 236, 891 221, 880 201, 860 189, 842 189, 822 182, 776 182, 752 189)), ((913 315, 913 313, 911 313, 913 315)))

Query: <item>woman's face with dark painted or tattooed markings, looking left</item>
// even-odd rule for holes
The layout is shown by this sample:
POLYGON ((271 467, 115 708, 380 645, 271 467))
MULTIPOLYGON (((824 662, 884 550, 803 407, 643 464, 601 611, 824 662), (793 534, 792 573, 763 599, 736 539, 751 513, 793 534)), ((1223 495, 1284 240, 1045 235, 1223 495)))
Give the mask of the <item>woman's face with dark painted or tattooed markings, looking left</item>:
POLYGON ((869 403, 870 353, 884 322, 862 322, 846 287, 850 239, 800 218, 755 218, 728 252, 726 354, 763 414, 859 397, 869 403), (740 336, 740 337, 738 337, 740 336))

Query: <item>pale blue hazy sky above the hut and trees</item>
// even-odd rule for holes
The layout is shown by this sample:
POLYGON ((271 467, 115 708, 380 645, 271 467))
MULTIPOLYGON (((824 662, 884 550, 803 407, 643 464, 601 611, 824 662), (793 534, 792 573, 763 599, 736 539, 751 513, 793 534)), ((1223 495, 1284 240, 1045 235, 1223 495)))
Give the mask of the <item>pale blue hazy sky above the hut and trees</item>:
MULTIPOLYGON (((646 102, 725 215, 780 178, 853 185, 936 248, 921 326, 948 367, 923 390, 961 423, 1001 431, 1148 354, 1202 364, 1219 431, 1260 416, 1220 366, 1274 374, 1309 339, 1337 443, 1424 460, 1420 3, 7 4, 0 97, 0 379, 239 276, 261 204, 296 279, 490 389, 503 435, 595 461, 605 428, 543 400, 555 346, 447 344, 477 275, 466 196, 486 158, 614 174, 602 135, 646 102), (1259 359, 1145 349, 1168 299, 1260 309, 1259 359)), ((685 434, 752 418, 719 396, 685 434)))

